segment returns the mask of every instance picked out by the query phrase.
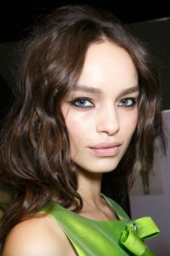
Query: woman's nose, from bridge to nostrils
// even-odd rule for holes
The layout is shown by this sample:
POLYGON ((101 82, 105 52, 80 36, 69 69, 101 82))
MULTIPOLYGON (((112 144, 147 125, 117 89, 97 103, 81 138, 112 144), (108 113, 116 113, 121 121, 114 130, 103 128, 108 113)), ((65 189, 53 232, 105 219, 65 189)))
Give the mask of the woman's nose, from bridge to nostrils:
POLYGON ((97 132, 115 135, 120 129, 120 121, 117 110, 113 104, 107 103, 97 114, 97 132))

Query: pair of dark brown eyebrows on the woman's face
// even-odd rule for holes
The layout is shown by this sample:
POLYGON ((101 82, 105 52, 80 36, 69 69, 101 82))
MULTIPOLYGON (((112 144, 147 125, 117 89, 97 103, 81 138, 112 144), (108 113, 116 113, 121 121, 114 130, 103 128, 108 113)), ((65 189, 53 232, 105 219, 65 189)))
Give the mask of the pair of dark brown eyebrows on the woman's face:
MULTIPOLYGON (((91 86, 86 86, 86 85, 77 85, 74 88, 71 88, 71 90, 73 92, 93 93, 93 94, 97 94, 97 95, 104 94, 101 89, 94 88, 91 86)), ((122 97, 123 95, 130 94, 130 93, 136 93, 138 91, 139 91, 139 87, 138 87, 138 85, 135 85, 135 86, 127 88, 125 90, 121 90, 119 93, 119 97, 122 97)))

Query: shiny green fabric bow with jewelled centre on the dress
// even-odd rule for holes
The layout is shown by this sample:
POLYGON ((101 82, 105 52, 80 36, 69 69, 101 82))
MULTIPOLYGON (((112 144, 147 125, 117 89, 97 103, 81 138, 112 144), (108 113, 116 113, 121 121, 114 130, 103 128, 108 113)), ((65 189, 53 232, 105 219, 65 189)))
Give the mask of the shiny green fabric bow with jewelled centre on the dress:
POLYGON ((127 230, 122 232, 121 243, 134 255, 155 256, 143 239, 151 239, 160 231, 151 217, 138 218, 128 223, 127 230))

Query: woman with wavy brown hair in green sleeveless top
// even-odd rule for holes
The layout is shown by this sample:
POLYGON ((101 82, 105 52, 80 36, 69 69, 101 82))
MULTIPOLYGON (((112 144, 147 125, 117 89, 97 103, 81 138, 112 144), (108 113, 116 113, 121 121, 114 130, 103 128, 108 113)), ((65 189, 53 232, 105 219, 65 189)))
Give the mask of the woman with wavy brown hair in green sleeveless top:
POLYGON ((153 255, 143 242, 159 232, 153 221, 143 236, 143 219, 101 194, 103 175, 114 170, 118 195, 144 158, 151 170, 155 138, 164 145, 146 49, 112 14, 62 7, 27 41, 21 66, 1 136, 1 181, 12 190, 3 256, 153 255))

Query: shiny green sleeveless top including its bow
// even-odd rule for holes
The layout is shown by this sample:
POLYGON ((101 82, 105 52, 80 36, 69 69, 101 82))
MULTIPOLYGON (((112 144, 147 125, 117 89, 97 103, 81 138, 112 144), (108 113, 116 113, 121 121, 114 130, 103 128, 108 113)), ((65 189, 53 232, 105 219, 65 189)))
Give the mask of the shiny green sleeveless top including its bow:
POLYGON ((55 203, 48 203, 40 213, 50 215, 65 232, 79 256, 153 256, 143 239, 159 230, 150 217, 130 221, 114 200, 102 194, 115 211, 118 221, 94 221, 55 203))

